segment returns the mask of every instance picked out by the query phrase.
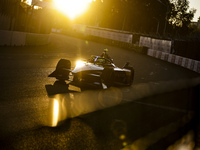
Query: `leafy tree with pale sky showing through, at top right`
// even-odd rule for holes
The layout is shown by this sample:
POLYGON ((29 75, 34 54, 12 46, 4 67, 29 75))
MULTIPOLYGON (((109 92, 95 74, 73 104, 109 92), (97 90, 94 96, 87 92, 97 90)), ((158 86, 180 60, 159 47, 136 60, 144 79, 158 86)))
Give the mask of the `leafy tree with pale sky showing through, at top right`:
POLYGON ((181 35, 189 33, 189 24, 194 17, 196 12, 195 9, 189 9, 188 0, 171 0, 171 11, 168 15, 169 24, 173 30, 176 30, 181 35))

